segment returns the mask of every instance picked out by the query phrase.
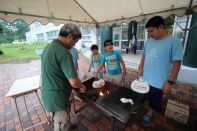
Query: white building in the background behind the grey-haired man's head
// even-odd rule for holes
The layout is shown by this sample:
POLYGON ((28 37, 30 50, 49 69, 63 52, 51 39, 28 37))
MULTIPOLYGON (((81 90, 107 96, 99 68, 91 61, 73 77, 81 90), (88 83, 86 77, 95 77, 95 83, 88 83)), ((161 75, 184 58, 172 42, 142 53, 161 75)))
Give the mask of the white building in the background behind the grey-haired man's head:
MULTIPOLYGON (((39 22, 34 22, 30 25, 30 31, 27 32, 26 41, 28 43, 36 41, 45 41, 50 43, 53 39, 58 37, 59 30, 63 24, 55 26, 53 23, 48 23, 47 25, 41 25, 39 22)), ((76 43, 76 48, 81 49, 82 45, 89 48, 92 44, 96 44, 96 29, 92 27, 80 27, 82 32, 82 39, 76 43), (84 31, 89 29, 89 33, 84 31), (83 33, 84 32, 84 33, 83 33)))

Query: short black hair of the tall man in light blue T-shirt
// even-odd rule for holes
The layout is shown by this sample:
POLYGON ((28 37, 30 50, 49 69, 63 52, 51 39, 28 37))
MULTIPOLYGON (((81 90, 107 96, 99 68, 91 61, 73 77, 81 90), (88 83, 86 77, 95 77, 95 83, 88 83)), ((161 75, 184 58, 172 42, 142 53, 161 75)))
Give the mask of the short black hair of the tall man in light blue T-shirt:
POLYGON ((161 16, 154 16, 148 20, 146 23, 146 28, 148 27, 156 27, 159 28, 160 25, 163 25, 163 28, 165 29, 165 22, 163 17, 161 16))

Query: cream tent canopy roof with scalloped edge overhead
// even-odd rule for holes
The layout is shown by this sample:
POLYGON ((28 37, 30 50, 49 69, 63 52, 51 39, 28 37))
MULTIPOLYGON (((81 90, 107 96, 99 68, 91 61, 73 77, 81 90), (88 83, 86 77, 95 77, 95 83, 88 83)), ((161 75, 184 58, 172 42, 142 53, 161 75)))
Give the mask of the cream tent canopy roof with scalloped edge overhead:
MULTIPOLYGON (((73 22, 78 25, 112 25, 142 20, 154 15, 184 15, 190 0, 0 0, 0 18, 28 24, 39 21, 56 25, 73 22)), ((196 11, 197 0, 191 9, 196 11)))

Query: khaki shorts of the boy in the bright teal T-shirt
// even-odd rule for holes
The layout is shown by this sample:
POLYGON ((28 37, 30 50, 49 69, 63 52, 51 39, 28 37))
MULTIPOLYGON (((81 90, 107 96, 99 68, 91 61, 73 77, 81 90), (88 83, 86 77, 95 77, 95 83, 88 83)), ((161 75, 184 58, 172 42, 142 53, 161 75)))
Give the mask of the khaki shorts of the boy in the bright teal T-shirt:
POLYGON ((107 81, 111 82, 112 84, 121 86, 121 84, 122 84, 122 74, 119 74, 119 75, 107 74, 107 81))

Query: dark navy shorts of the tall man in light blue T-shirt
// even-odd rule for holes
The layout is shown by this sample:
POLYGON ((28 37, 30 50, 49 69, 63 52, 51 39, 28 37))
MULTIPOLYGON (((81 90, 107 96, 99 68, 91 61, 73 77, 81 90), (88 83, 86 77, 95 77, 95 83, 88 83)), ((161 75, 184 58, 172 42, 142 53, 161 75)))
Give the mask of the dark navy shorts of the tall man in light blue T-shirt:
POLYGON ((163 96, 163 92, 161 89, 155 88, 151 85, 150 86, 150 91, 145 94, 142 98, 142 100, 140 100, 140 102, 143 102, 145 100, 149 101, 149 106, 155 110, 156 112, 161 112, 162 108, 161 108, 161 103, 162 103, 162 96, 163 96))

